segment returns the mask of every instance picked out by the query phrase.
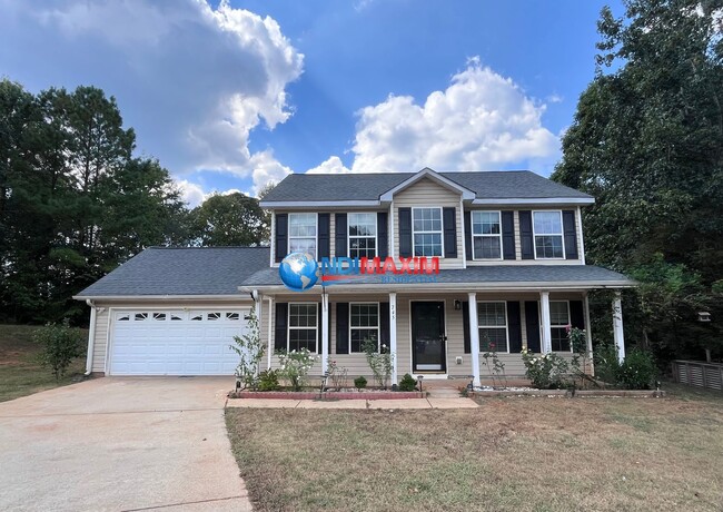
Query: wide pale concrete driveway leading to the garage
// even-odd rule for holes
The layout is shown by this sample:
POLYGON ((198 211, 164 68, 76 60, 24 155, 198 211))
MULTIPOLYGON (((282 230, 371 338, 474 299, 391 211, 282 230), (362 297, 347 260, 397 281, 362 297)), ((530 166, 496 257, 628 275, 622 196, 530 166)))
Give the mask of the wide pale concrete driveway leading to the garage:
POLYGON ((106 377, 0 403, 0 510, 251 510, 228 377, 106 377))

